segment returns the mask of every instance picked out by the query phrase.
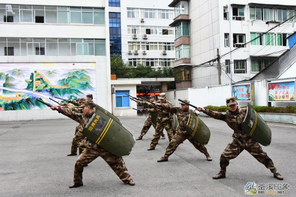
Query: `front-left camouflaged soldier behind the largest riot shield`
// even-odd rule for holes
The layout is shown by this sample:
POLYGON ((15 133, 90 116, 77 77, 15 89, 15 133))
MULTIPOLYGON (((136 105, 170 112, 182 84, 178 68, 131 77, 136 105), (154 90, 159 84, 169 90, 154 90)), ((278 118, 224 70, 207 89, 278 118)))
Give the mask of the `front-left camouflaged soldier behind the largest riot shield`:
MULTIPOLYGON (((85 127, 94 114, 94 103, 91 100, 85 100, 82 105, 79 107, 82 108, 82 114, 75 113, 70 109, 62 108, 61 106, 52 106, 50 107, 52 110, 55 108, 59 108, 62 110, 62 114, 68 116, 69 118, 73 119, 74 121, 80 123, 83 127, 85 127)), ((97 157, 101 157, 110 165, 112 170, 117 174, 117 176, 126 184, 131 186, 135 185, 130 173, 127 171, 124 161, 122 157, 116 156, 109 152, 108 150, 104 149, 103 147, 99 146, 98 144, 92 142, 88 138, 86 139, 85 143, 86 148, 84 151, 79 155, 78 159, 76 160, 75 167, 74 167, 74 183, 69 186, 69 188, 80 187, 83 185, 82 182, 82 172, 83 172, 83 165, 89 164, 94 161, 97 157)))

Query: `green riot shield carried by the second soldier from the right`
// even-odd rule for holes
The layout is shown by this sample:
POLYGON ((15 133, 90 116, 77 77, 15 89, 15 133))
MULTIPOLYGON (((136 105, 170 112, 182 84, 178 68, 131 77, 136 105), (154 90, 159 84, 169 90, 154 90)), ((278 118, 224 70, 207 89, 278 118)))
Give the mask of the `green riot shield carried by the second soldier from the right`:
POLYGON ((208 144, 211 137, 209 128, 192 111, 186 125, 186 131, 203 145, 208 144))

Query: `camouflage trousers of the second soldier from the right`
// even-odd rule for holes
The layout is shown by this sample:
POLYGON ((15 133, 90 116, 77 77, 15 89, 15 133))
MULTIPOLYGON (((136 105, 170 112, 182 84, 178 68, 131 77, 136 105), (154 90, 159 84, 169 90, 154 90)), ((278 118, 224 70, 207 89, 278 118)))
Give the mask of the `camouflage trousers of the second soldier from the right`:
POLYGON ((189 142, 201 153, 205 154, 206 156, 209 155, 207 148, 199 143, 196 139, 192 138, 187 131, 181 131, 179 128, 177 128, 176 134, 170 141, 170 144, 168 145, 166 151, 165 151, 165 158, 168 158, 170 155, 172 155, 177 147, 186 139, 189 140, 189 142))

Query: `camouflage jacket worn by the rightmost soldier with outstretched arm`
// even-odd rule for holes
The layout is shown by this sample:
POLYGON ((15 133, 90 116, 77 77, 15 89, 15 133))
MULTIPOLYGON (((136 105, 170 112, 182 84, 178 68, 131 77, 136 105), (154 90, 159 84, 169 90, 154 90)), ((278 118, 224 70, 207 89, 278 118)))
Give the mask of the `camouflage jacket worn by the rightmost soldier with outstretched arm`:
POLYGON ((217 112, 205 109, 204 113, 212 118, 226 122, 227 125, 234 131, 232 134, 234 141, 239 143, 241 146, 249 146, 256 142, 250 135, 244 134, 242 129, 247 108, 238 108, 235 112, 231 112, 229 110, 226 112, 217 112))

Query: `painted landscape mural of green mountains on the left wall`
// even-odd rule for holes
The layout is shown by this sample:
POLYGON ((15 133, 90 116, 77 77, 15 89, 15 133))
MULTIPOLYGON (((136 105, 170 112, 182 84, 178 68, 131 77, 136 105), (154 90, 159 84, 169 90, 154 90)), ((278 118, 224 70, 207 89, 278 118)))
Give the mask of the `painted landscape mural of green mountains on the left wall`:
POLYGON ((0 63, 0 110, 48 108, 92 94, 96 100, 95 63, 0 63), (64 101, 62 101, 64 102, 64 101))

